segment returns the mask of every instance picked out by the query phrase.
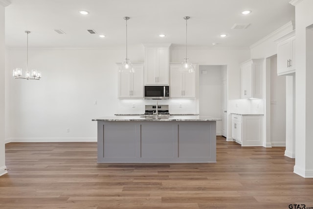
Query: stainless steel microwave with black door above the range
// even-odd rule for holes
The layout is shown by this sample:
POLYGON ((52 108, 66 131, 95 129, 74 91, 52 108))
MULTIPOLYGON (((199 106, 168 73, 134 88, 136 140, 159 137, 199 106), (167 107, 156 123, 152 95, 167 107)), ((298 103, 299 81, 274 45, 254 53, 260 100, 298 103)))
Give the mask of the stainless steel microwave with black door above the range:
POLYGON ((145 99, 169 99, 169 86, 145 86, 145 99))

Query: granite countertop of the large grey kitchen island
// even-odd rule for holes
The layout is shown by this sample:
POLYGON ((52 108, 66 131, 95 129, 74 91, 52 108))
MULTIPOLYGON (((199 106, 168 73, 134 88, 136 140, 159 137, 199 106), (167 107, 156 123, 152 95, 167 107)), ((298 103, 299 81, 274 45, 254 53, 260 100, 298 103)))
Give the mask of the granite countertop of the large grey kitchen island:
POLYGON ((199 115, 179 115, 179 116, 143 116, 143 115, 123 115, 123 116, 104 116, 92 119, 92 121, 218 121, 221 118, 199 115))

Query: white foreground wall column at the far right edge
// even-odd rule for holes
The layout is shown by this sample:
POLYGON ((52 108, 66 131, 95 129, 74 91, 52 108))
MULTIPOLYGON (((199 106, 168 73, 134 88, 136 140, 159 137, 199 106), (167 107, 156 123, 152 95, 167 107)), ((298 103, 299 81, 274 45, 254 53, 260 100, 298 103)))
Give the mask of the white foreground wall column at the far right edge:
POLYGON ((296 76, 295 76, 295 165, 294 172, 313 178, 313 63, 312 33, 307 27, 313 24, 313 1, 295 1, 296 20, 296 76), (311 57, 310 57, 311 55, 311 57))

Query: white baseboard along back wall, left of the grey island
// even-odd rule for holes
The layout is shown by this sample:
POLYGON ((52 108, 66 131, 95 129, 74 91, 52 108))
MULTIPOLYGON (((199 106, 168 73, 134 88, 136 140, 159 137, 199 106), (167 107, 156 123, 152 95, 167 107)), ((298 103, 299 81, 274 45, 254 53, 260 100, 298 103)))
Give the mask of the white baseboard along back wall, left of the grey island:
POLYGON ((94 142, 97 141, 96 137, 79 138, 79 137, 68 137, 68 138, 10 138, 6 139, 5 142, 94 142))

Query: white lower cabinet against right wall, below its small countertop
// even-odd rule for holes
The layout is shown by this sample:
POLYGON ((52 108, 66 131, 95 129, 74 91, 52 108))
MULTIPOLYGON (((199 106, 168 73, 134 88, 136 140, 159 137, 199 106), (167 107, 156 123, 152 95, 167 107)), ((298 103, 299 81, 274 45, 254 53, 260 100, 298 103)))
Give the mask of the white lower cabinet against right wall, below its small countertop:
POLYGON ((232 114, 231 137, 242 146, 262 146, 263 116, 232 114))

